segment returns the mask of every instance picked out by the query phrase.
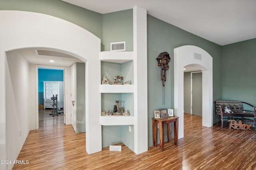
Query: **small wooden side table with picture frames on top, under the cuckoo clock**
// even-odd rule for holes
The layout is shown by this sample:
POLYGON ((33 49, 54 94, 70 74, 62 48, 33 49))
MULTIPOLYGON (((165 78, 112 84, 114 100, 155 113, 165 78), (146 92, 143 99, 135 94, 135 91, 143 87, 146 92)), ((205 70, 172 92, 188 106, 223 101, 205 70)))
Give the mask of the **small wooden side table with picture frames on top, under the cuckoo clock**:
POLYGON ((168 142, 171 141, 172 122, 174 122, 174 144, 178 145, 178 121, 179 117, 152 118, 153 144, 156 147, 157 124, 159 124, 159 143, 160 150, 164 150, 164 124, 167 124, 168 142))

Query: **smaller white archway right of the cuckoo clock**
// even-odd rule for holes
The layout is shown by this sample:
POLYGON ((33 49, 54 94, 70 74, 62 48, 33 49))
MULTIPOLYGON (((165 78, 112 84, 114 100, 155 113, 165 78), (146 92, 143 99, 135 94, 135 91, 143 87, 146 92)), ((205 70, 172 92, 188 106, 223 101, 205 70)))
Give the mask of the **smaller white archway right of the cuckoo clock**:
POLYGON ((184 137, 184 66, 196 64, 202 70, 202 125, 212 126, 212 57, 200 47, 184 45, 174 49, 174 113, 179 118, 178 137, 184 137), (198 57, 201 60, 198 60, 198 57))

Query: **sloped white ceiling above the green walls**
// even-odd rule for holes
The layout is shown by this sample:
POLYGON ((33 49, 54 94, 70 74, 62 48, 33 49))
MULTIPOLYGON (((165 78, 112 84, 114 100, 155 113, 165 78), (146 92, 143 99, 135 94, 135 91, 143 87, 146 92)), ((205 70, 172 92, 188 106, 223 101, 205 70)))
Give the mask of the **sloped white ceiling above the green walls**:
POLYGON ((100 14, 140 6, 190 33, 227 45, 256 38, 256 0, 62 0, 100 14))

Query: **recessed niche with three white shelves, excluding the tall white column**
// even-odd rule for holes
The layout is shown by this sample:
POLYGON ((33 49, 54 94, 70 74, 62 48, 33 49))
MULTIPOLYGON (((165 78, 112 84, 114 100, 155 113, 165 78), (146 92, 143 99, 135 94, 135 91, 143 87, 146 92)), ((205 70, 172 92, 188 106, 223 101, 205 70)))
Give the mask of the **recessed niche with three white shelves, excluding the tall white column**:
POLYGON ((104 51, 100 53, 101 80, 103 76, 108 78, 110 84, 100 84, 101 109, 111 110, 113 113, 115 101, 119 100, 119 106, 127 109, 129 116, 100 116, 102 125, 102 147, 108 147, 116 143, 124 143, 134 151, 134 61, 133 52, 104 51), (122 76, 124 80, 131 80, 132 84, 113 84, 115 76, 122 76), (129 127, 131 132, 128 131, 129 127), (110 137, 111 136, 111 137, 110 137))

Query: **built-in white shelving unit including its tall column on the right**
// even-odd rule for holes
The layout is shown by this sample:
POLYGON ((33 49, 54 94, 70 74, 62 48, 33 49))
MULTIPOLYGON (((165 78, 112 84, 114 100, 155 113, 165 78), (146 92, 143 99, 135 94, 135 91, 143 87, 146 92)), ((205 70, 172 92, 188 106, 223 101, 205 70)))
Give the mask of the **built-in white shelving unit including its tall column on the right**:
MULTIPOLYGON (((110 83, 109 85, 99 84, 101 110, 113 111, 115 100, 119 100, 119 106, 130 112, 130 116, 94 114, 99 118, 101 126, 100 137, 104 139, 101 143, 102 147, 122 141, 136 154, 148 150, 146 21, 147 11, 135 6, 133 8, 133 51, 103 51, 99 54, 101 80, 106 76, 110 83), (132 85, 113 85, 114 76, 118 75, 124 77, 123 81, 131 80, 132 85)), ((96 117, 94 118, 97 119, 96 117)))

